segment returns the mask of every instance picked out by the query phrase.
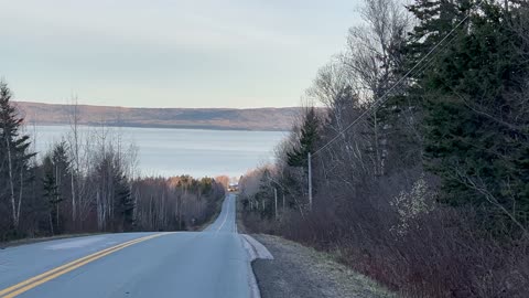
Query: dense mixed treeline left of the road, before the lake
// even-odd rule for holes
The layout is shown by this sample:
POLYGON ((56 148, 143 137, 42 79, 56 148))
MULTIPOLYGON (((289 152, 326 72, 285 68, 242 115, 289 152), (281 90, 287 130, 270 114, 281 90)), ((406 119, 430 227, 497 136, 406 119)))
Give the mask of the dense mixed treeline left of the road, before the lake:
POLYGON ((11 91, 0 83, 0 242, 193 228, 218 209, 226 188, 220 181, 140 178, 133 146, 104 126, 79 129, 76 104, 69 116, 69 134, 37 157, 11 91))

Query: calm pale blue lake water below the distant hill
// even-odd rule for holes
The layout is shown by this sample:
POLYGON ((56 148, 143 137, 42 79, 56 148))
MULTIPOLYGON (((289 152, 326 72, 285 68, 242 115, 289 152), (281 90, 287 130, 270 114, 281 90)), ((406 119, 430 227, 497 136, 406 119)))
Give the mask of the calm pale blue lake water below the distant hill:
MULTIPOLYGON (((68 126, 28 127, 36 130, 35 150, 46 151, 61 141, 68 126)), ((142 175, 239 177, 249 169, 273 161, 273 148, 287 136, 282 131, 240 131, 169 128, 107 128, 120 131, 125 143, 138 148, 142 175)), ((96 127, 82 127, 84 135, 96 127)))

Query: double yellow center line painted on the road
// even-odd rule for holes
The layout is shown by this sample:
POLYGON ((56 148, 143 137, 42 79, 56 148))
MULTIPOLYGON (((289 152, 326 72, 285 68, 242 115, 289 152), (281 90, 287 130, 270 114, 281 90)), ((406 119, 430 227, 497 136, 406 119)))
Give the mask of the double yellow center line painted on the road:
POLYGON ((25 291, 28 291, 28 290, 30 290, 30 289, 39 286, 39 285, 42 285, 46 281, 50 281, 54 278, 57 278, 61 275, 64 275, 64 274, 69 273, 72 270, 75 270, 76 268, 79 268, 80 266, 84 266, 84 265, 86 265, 90 262, 94 262, 94 260, 99 259, 104 256, 107 256, 109 254, 121 251, 125 247, 138 244, 140 242, 144 242, 144 241, 148 241, 148 240, 152 240, 152 238, 165 235, 165 234, 166 233, 153 234, 153 235, 144 236, 144 237, 141 237, 141 238, 132 240, 132 241, 125 242, 125 243, 121 243, 119 245, 99 251, 99 252, 94 253, 91 255, 78 258, 76 260, 73 260, 73 262, 67 263, 65 265, 53 268, 53 269, 51 269, 48 272, 45 272, 43 274, 40 274, 37 276, 33 276, 33 277, 31 277, 31 278, 29 278, 29 279, 26 279, 22 283, 19 283, 14 286, 2 289, 2 290, 0 290, 0 297, 1 298, 12 298, 12 297, 19 296, 22 292, 25 292, 25 291))

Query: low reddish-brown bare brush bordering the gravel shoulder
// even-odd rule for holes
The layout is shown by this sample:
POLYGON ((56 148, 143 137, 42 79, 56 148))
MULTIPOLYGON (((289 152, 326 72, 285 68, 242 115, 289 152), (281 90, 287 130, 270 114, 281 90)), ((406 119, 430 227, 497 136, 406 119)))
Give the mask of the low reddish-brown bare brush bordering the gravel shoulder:
POLYGON ((321 189, 326 195, 316 195, 307 214, 288 209, 277 220, 264 220, 246 210, 242 221, 251 233, 281 235, 330 252, 406 297, 526 297, 527 238, 497 238, 477 224, 474 210, 436 203, 434 189, 425 191, 435 178, 417 170, 399 177, 380 180, 387 187, 359 187, 355 196, 344 189, 321 189), (415 182, 406 183, 407 175, 415 182), (407 189, 398 192, 397 184, 407 189), (406 230, 396 230, 403 227, 403 215, 406 230))

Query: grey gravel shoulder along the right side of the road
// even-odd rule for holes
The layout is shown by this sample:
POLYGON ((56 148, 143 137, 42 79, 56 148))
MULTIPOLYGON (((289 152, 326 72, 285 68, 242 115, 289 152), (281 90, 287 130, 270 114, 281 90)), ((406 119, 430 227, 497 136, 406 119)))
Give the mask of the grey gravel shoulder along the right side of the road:
POLYGON ((262 298, 396 297, 328 254, 278 236, 252 236, 274 257, 252 263, 262 298))

